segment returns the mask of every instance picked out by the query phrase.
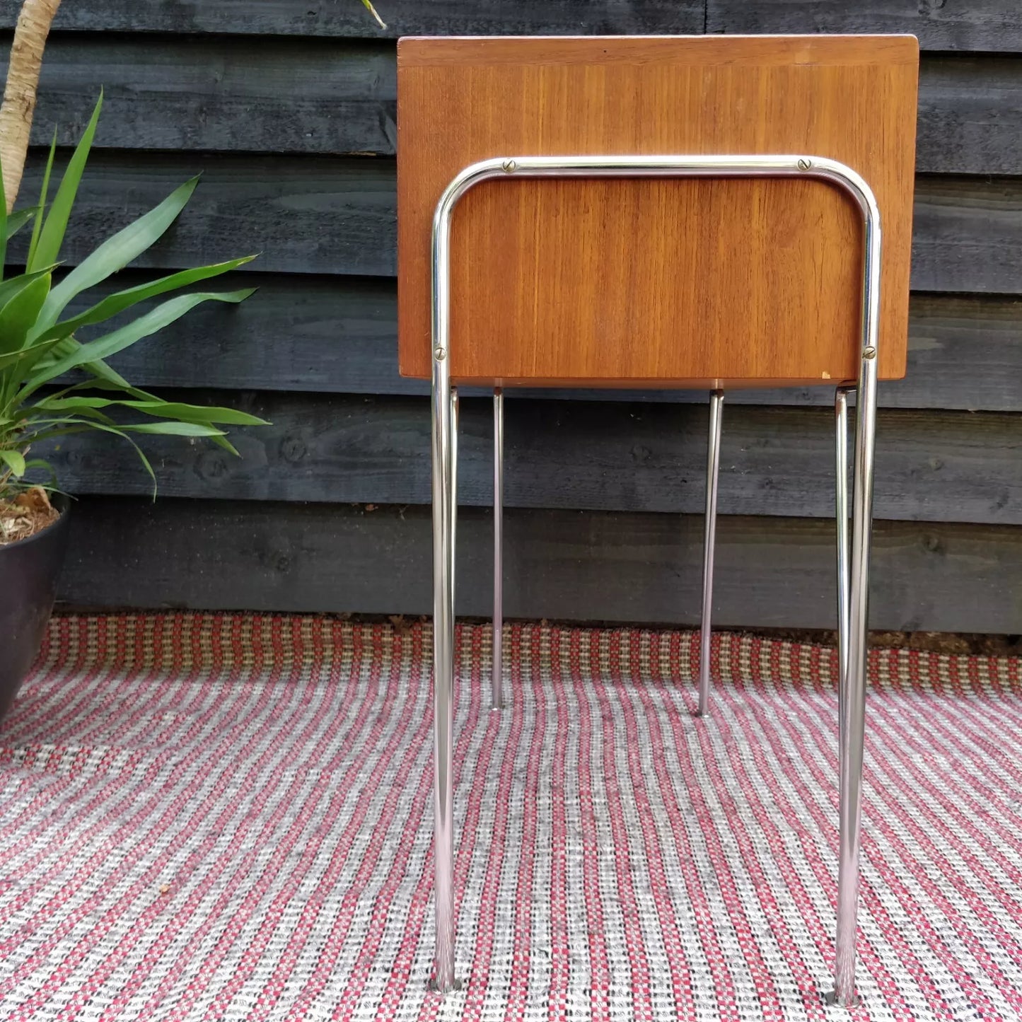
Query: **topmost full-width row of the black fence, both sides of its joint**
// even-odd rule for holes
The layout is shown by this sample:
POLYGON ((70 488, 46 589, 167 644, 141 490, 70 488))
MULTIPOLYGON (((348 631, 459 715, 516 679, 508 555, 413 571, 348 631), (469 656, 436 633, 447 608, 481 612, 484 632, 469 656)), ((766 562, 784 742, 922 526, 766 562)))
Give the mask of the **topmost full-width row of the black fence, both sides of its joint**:
MULTIPOLYGON (((0 0, 12 26, 16 0, 0 0)), ((89 0, 61 6, 55 29, 398 38, 403 35, 909 32, 924 49, 1022 50, 1016 0, 381 0, 385 29, 359 0, 89 0)))

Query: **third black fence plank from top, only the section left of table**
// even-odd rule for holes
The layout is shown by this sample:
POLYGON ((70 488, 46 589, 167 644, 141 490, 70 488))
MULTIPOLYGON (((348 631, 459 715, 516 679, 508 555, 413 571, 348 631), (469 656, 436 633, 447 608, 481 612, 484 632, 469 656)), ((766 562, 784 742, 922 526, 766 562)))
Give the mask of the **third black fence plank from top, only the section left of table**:
MULTIPOLYGON (((66 156, 66 150, 64 150, 66 156)), ((39 194, 40 150, 19 205, 39 194)), ((97 151, 82 181, 61 256, 75 264, 196 174, 191 202, 139 266, 196 266, 261 252, 258 271, 392 276, 394 161, 371 157, 244 156, 97 151)), ((17 260, 22 231, 8 248, 17 260)))

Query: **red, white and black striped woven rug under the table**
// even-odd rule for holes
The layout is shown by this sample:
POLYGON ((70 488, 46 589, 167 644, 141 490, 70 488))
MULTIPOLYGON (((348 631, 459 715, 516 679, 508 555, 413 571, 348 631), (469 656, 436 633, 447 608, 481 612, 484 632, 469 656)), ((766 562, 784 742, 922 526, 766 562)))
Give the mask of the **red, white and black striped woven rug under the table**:
POLYGON ((826 1008, 835 655, 459 633, 457 971, 429 992, 429 631, 69 616, 0 727, 0 1017, 1022 1018, 1017 659, 874 651, 860 992, 826 1008))

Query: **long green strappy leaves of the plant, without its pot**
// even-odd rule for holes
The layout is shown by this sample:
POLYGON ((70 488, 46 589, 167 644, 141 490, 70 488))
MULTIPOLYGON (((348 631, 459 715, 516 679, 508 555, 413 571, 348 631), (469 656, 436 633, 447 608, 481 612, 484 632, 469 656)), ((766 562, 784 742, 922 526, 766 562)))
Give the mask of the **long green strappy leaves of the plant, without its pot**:
POLYGON ((109 332, 103 333, 100 328, 98 336, 80 336, 83 331, 92 333, 92 328, 140 301, 217 277, 253 257, 182 270, 107 294, 75 315, 65 314, 74 299, 123 269, 164 234, 188 202, 198 180, 185 182, 55 283, 60 246, 101 108, 102 96, 48 206, 55 139, 39 204, 8 216, 0 194, 0 273, 8 239, 17 230, 33 225, 25 272, 7 279, 0 276, 0 508, 5 503, 9 506, 40 472, 48 484, 54 484, 51 467, 30 456, 43 440, 85 430, 127 440, 152 478, 155 493, 155 474, 135 435, 208 437, 236 454, 224 427, 265 424, 262 419, 229 408, 164 401, 132 386, 104 361, 204 301, 239 303, 251 293, 250 288, 178 294, 109 332))

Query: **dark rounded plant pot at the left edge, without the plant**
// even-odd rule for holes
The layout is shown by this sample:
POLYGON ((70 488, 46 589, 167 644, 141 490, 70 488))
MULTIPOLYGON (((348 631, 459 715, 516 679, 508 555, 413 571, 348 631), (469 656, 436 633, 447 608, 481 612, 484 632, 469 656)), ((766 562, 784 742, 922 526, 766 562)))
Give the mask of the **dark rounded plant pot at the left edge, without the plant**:
POLYGON ((0 546, 0 717, 36 659, 50 619, 67 549, 69 504, 57 495, 53 506, 60 517, 52 525, 0 546))

